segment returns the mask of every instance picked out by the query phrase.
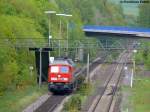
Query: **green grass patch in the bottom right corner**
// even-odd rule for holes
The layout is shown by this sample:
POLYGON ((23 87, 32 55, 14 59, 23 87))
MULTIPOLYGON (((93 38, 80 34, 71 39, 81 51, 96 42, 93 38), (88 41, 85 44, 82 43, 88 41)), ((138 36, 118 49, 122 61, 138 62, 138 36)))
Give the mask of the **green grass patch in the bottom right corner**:
POLYGON ((141 80, 135 81, 131 90, 134 112, 150 112, 150 78, 141 78, 141 80))

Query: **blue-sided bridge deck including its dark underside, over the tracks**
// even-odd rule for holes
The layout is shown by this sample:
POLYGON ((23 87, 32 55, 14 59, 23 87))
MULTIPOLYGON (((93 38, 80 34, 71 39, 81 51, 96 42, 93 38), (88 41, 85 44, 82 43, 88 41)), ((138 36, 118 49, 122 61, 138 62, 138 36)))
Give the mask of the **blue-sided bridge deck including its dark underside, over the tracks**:
POLYGON ((150 28, 124 27, 124 26, 84 26, 87 36, 119 35, 150 39, 150 28))

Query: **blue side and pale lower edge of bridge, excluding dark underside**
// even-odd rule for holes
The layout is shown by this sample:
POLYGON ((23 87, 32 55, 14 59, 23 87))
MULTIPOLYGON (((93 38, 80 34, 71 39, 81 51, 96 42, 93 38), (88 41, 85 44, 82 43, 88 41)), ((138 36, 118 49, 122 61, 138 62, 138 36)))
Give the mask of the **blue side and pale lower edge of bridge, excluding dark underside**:
POLYGON ((135 36, 150 37, 150 28, 125 27, 125 26, 84 26, 85 32, 114 33, 114 34, 134 34, 135 36))

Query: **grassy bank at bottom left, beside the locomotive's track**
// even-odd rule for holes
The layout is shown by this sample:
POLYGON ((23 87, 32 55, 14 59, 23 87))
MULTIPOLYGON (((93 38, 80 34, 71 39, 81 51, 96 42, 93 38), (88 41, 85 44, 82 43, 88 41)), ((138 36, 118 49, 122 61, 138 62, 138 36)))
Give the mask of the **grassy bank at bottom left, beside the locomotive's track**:
POLYGON ((45 85, 41 89, 37 86, 30 86, 15 92, 7 91, 0 96, 0 112, 21 112, 46 91, 47 86, 45 85))

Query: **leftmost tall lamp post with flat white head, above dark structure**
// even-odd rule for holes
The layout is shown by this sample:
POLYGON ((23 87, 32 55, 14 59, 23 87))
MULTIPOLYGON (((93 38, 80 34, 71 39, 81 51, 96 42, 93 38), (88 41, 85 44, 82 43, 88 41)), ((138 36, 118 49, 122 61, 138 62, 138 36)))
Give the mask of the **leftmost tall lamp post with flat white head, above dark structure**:
POLYGON ((51 30, 51 18, 50 18, 50 15, 56 13, 56 11, 45 11, 45 13, 49 15, 49 21, 48 21, 48 45, 50 46, 50 39, 52 38, 52 36, 50 34, 51 33, 50 32, 50 30, 51 30))

